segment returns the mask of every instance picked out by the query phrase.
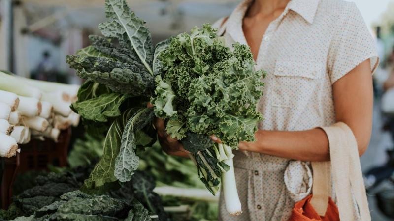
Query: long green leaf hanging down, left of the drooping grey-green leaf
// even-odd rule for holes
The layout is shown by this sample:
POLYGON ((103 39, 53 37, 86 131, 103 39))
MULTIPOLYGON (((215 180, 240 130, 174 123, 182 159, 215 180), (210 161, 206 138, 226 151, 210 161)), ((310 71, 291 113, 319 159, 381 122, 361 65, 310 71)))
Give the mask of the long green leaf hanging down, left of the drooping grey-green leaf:
POLYGON ((114 175, 115 159, 119 154, 122 133, 128 120, 137 110, 139 109, 132 108, 125 111, 122 116, 117 117, 112 123, 104 139, 102 157, 96 164, 89 178, 85 180, 84 189, 91 190, 99 188, 105 183, 111 183, 117 180, 114 175))

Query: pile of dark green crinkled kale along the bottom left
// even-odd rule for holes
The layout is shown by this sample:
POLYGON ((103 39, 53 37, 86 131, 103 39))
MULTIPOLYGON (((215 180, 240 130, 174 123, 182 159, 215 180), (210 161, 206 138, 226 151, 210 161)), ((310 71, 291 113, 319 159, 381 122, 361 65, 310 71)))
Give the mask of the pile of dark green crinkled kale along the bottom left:
POLYGON ((0 210, 0 221, 169 221, 150 175, 137 171, 129 182, 87 194, 78 189, 91 171, 88 166, 38 175, 33 187, 15 196, 8 210, 0 210))

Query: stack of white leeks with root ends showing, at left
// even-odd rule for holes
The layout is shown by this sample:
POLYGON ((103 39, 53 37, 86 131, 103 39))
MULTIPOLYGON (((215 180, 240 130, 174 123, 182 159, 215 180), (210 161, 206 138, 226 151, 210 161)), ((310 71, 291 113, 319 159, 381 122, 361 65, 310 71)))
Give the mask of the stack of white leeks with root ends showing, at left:
POLYGON ((13 157, 31 137, 58 141, 60 130, 77 126, 70 105, 78 85, 26 79, 0 71, 0 157, 13 157), (49 98, 48 98, 49 97, 49 98))

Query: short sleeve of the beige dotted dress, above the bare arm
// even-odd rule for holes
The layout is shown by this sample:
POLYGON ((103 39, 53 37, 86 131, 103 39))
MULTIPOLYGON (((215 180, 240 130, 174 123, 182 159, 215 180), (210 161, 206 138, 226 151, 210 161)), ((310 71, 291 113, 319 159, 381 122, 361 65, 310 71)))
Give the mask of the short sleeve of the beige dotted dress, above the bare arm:
POLYGON ((331 84, 367 59, 370 59, 372 73, 379 63, 375 41, 356 4, 346 3, 339 13, 328 52, 331 84))

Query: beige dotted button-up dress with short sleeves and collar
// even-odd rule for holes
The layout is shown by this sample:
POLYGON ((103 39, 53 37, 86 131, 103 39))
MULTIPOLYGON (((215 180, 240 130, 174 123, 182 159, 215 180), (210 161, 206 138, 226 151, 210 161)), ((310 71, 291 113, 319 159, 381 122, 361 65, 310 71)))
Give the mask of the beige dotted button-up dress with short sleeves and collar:
MULTIPOLYGON (((242 19, 250 3, 240 3, 219 29, 229 46, 247 44, 242 19)), ((354 3, 291 0, 268 26, 259 48, 255 67, 267 72, 258 105, 264 117, 260 129, 300 131, 333 124, 332 84, 367 59, 374 71, 375 43, 354 3)), ((286 221, 294 202, 310 194, 308 163, 240 151, 235 155, 244 213, 228 217, 221 206, 221 220, 286 221)))

